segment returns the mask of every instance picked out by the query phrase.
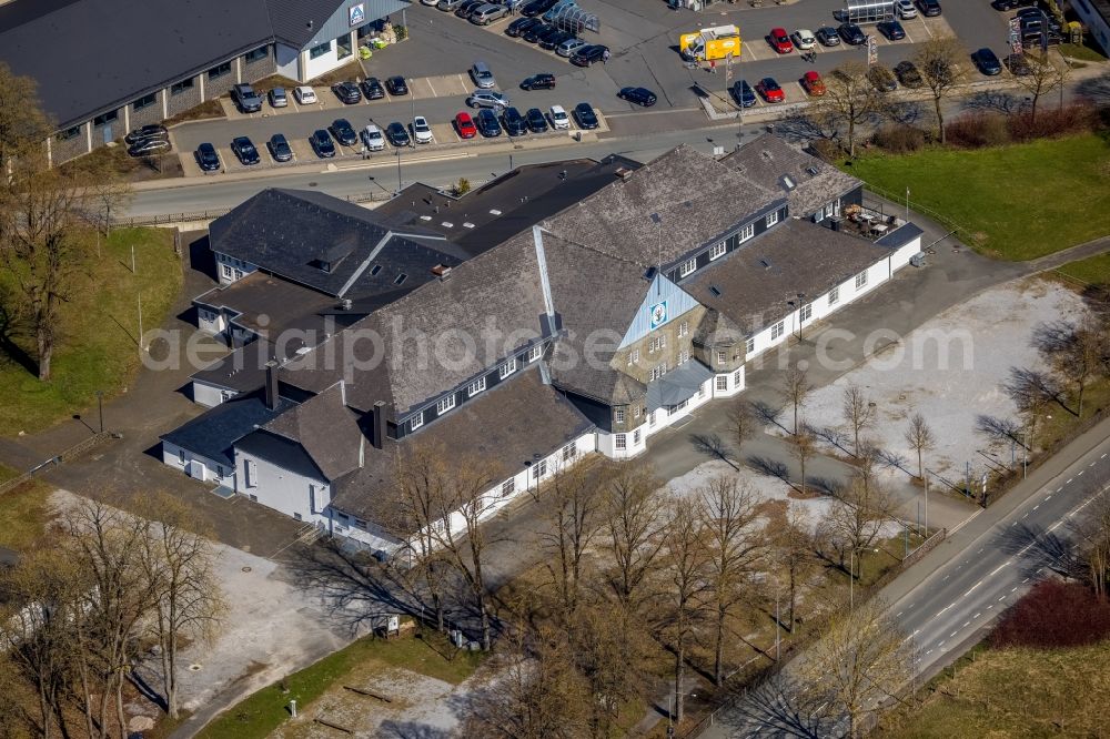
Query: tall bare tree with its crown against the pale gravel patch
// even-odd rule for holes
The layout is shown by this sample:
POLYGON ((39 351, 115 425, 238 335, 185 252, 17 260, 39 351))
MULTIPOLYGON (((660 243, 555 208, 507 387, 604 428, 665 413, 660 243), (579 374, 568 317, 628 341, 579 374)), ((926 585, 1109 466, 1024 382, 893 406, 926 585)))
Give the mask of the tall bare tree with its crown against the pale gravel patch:
POLYGON ((755 561, 767 548, 759 498, 736 477, 714 477, 697 492, 713 606, 713 679, 725 682, 725 625, 745 597, 755 561))

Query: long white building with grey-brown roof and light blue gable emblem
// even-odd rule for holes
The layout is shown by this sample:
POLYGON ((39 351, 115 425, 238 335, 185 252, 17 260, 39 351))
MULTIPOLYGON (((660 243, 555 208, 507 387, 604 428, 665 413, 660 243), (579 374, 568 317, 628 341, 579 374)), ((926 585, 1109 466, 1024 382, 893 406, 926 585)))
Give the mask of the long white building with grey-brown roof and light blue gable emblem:
MULTIPOLYGON (((452 473, 476 462, 492 470, 477 497, 456 500, 491 515, 585 455, 637 457, 657 432, 740 393, 753 357, 890 280, 921 236, 891 216, 861 217, 840 200, 852 183, 817 164, 814 176, 831 184, 797 200, 800 186, 775 183, 807 155, 760 146, 777 152, 779 175, 761 154, 749 176, 737 160, 686 146, 612 169, 573 204, 496 233, 450 269, 425 264, 404 295, 272 362, 268 407, 293 405, 234 444, 236 492, 393 554, 420 532, 462 525, 455 509, 414 518, 398 497, 397 465, 420 451, 452 473), (695 174, 713 184, 689 188, 695 174), (817 209, 858 223, 827 227, 817 209)), ((404 203, 366 219, 385 234, 415 227, 404 203)), ((329 247, 326 233, 313 249, 329 247)), ((355 261, 374 260, 363 251, 355 261)))

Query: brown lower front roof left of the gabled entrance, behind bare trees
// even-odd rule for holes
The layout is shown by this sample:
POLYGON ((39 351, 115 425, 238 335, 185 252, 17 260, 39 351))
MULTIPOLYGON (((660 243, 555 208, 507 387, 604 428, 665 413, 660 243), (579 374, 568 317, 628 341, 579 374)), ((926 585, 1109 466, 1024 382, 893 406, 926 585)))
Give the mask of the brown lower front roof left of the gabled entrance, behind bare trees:
MULTIPOLYGON (((501 478, 507 478, 523 470, 534 454, 549 455, 591 428, 593 425, 558 391, 543 384, 534 366, 403 443, 442 448, 448 469, 471 459, 500 463, 501 478)), ((392 439, 384 449, 367 447, 365 466, 333 482, 332 506, 403 537, 412 534, 414 526, 404 520, 394 494, 397 452, 398 444, 392 439)))

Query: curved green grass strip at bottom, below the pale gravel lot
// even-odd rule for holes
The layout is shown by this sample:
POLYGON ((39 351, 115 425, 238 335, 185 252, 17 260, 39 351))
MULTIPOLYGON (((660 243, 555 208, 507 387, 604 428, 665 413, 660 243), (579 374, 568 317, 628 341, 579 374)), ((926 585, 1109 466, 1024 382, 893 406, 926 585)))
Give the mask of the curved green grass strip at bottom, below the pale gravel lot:
POLYGON ((421 672, 452 684, 470 677, 484 655, 456 651, 446 639, 427 630, 430 642, 414 637, 383 641, 364 638, 324 657, 315 665, 294 672, 285 680, 289 692, 280 685, 271 685, 250 696, 238 706, 229 708, 200 731, 200 739, 262 739, 287 718, 290 700, 296 700, 303 711, 330 688, 337 687, 343 678, 367 661, 421 672), (445 658, 443 655, 453 657, 445 658))

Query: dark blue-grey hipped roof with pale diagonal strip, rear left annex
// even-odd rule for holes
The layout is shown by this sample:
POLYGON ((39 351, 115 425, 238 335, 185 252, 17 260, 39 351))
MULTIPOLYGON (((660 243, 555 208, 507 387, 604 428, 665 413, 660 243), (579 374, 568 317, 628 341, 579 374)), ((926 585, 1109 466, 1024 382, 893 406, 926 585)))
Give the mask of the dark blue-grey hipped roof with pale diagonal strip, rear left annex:
POLYGON ((392 231, 373 211, 345 200, 281 189, 263 190, 213 221, 209 243, 213 252, 321 293, 376 304, 432 280, 436 264, 454 266, 467 256, 426 229, 392 231))

